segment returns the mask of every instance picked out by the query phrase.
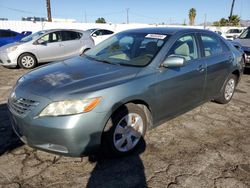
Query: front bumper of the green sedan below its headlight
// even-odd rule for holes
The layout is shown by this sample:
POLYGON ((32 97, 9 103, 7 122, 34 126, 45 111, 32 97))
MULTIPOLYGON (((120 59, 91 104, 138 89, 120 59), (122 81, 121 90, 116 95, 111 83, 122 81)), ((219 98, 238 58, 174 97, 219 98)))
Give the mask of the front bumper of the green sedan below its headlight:
POLYGON ((8 108, 12 127, 24 143, 72 157, 93 154, 98 150, 107 121, 106 113, 94 111, 60 117, 36 117, 31 111, 21 117, 13 112, 9 102, 8 108))

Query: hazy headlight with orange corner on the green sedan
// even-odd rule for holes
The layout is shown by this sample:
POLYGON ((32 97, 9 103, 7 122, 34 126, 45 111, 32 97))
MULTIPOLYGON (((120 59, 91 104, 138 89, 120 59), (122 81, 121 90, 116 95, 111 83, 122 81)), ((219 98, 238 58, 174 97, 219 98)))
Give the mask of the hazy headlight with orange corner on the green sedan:
POLYGON ((101 97, 53 102, 45 107, 39 116, 65 116, 89 112, 93 110, 100 101, 101 97))

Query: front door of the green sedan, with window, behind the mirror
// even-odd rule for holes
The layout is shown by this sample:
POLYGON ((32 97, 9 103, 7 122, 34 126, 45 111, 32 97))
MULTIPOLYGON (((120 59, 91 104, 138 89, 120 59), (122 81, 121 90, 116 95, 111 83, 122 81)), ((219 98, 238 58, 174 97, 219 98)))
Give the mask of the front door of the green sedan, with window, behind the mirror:
POLYGON ((159 120, 186 111, 204 100, 206 62, 200 59, 196 35, 179 37, 166 54, 166 58, 171 56, 184 58, 186 65, 158 72, 155 101, 159 120))

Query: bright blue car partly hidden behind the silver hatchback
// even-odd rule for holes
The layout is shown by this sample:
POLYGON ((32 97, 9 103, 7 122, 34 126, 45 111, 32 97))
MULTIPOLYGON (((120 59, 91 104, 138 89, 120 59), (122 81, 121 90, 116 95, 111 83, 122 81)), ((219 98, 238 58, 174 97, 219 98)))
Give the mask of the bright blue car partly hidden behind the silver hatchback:
POLYGON ((12 42, 20 41, 22 38, 30 35, 31 33, 31 31, 18 33, 10 29, 0 29, 0 47, 12 42))

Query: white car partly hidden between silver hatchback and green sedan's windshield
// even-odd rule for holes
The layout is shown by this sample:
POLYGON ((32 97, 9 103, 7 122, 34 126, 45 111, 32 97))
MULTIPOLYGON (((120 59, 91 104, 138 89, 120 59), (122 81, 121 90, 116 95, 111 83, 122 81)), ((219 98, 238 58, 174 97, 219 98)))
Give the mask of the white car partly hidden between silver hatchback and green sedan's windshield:
POLYGON ((88 29, 88 32, 90 32, 90 35, 95 41, 95 45, 99 44, 100 42, 104 41, 105 39, 109 38, 114 34, 113 31, 107 30, 107 29, 88 29))

